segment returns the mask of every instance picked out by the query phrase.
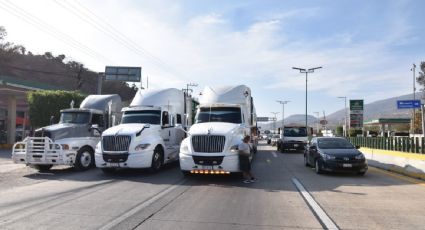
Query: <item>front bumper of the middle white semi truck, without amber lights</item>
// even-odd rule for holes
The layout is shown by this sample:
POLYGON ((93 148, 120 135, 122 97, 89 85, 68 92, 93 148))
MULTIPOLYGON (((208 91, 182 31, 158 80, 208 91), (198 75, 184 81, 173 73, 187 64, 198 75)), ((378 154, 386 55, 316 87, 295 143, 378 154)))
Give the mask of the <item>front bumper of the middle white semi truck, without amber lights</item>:
POLYGON ((153 150, 139 153, 95 153, 98 168, 150 168, 153 150))

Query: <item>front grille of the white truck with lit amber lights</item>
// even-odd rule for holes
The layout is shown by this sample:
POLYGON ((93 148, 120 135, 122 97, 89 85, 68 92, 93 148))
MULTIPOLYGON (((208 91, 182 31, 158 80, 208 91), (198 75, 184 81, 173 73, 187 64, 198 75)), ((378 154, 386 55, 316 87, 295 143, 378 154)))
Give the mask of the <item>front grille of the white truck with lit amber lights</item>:
POLYGON ((192 146, 195 152, 221 153, 224 149, 226 138, 218 135, 192 136, 192 146))

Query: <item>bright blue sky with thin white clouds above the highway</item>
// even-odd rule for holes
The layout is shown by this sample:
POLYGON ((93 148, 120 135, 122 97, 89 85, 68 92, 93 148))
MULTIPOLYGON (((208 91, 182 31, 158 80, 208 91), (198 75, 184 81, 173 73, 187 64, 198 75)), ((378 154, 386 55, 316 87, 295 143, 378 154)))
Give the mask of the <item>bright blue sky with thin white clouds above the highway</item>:
POLYGON ((308 113, 313 115, 342 109, 339 96, 370 103, 410 94, 412 63, 425 61, 421 0, 0 3, 0 25, 8 40, 34 53, 64 53, 99 72, 105 65, 142 66, 151 88, 195 82, 196 94, 206 85, 246 84, 258 116, 281 112, 276 100, 291 101, 285 116, 304 114, 305 76, 293 66, 323 67, 309 75, 308 113), (87 55, 35 28, 11 14, 13 7, 106 58, 87 55), (98 16, 96 22, 107 22, 113 33, 136 43, 139 51, 87 23, 91 14, 85 9, 98 16))

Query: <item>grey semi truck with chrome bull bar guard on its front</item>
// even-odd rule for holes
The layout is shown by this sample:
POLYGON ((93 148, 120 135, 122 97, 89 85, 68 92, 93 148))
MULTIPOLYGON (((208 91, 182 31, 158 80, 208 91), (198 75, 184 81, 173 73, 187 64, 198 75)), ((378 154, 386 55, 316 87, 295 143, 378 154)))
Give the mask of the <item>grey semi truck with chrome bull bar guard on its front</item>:
POLYGON ((53 165, 70 165, 77 170, 93 167, 101 132, 119 121, 121 108, 119 95, 89 95, 80 108, 61 110, 58 124, 37 129, 33 137, 15 143, 12 159, 39 171, 53 165))

